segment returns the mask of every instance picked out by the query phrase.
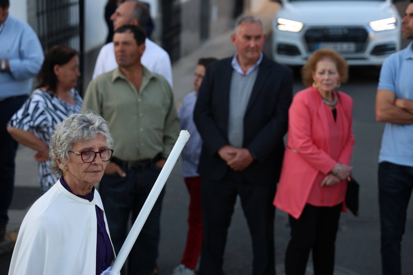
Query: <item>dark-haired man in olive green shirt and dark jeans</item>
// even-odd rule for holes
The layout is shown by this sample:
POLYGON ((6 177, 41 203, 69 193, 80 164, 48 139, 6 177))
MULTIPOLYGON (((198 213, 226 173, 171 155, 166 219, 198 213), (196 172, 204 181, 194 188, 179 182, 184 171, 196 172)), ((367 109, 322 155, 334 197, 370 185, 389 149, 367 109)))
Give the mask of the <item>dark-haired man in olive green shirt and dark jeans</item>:
MULTIPOLYGON (((112 162, 100 182, 115 252, 150 193, 179 135, 179 120, 169 83, 140 63, 145 31, 118 28, 113 37, 118 68, 90 82, 82 111, 92 110, 108 122, 114 137, 112 162)), ((157 259, 159 218, 164 191, 129 254, 128 274, 151 275, 157 259)), ((123 271, 124 273, 124 271, 123 271)))

